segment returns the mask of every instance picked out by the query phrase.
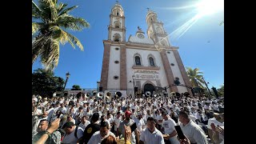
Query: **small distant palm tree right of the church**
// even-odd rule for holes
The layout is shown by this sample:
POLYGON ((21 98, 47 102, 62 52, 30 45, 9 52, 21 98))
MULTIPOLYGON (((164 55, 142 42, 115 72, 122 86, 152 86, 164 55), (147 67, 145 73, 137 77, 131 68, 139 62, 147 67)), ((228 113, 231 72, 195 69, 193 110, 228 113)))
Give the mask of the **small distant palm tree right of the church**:
POLYGON ((188 77, 190 78, 190 82, 193 87, 202 87, 204 88, 204 82, 202 80, 202 72, 199 71, 198 68, 195 68, 194 70, 191 67, 186 67, 186 73, 188 77))

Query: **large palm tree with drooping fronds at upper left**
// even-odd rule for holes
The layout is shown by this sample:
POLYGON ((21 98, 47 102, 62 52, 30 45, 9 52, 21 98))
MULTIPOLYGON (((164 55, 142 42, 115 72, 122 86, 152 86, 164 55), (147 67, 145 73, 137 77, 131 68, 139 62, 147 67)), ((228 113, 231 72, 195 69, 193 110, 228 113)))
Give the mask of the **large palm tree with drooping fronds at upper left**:
POLYGON ((58 0, 38 0, 38 5, 32 1, 32 65, 40 57, 46 70, 58 66, 59 43, 69 42, 72 47, 75 48, 75 44, 83 50, 78 38, 66 30, 81 31, 90 24, 69 14, 78 6, 66 6, 58 0))

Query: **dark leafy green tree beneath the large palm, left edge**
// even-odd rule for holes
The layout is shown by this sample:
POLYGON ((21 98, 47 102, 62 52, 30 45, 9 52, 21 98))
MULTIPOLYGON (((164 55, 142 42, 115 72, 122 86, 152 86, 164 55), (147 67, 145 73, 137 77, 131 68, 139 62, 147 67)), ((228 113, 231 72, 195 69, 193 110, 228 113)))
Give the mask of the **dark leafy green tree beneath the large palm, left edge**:
POLYGON ((51 70, 34 70, 32 74, 32 94, 52 97, 54 92, 62 91, 64 83, 64 79, 54 76, 51 70))

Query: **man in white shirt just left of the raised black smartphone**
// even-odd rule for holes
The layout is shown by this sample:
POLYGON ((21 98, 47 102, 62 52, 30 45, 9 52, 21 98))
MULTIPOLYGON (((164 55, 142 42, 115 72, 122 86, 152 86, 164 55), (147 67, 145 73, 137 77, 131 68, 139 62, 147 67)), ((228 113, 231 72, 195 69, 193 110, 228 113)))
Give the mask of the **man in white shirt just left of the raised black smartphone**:
POLYGON ((174 122, 174 120, 172 118, 167 117, 166 112, 162 113, 162 118, 163 118, 162 131, 164 132, 164 134, 169 135, 165 139, 169 140, 170 143, 172 143, 172 144, 179 144, 180 142, 178 142, 178 139, 176 138, 177 132, 174 127, 174 126, 176 126, 176 123, 174 122))

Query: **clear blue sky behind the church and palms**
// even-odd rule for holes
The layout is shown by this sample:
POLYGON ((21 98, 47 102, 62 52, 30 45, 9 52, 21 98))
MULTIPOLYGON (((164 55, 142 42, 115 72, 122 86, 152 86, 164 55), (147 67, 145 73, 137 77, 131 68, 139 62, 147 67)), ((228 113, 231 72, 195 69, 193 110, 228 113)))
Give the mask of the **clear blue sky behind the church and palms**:
MULTIPOLYGON (((114 0, 59 0, 77 5, 78 8, 70 14, 82 17, 90 23, 90 28, 80 32, 70 31, 84 46, 84 51, 76 47, 73 49, 69 43, 60 46, 60 58, 54 74, 65 78, 70 72, 66 88, 79 85, 82 88, 95 88, 101 78, 103 42, 107 39, 107 26, 110 24, 110 10, 114 0)), ((126 41, 130 34, 134 35, 140 26, 146 32, 147 7, 158 14, 158 20, 164 23, 164 28, 170 34, 172 46, 179 47, 179 54, 184 66, 199 68, 203 72, 209 86, 219 87, 224 83, 224 26, 219 26, 224 20, 224 11, 206 15, 199 18, 182 37, 171 35, 174 30, 194 17, 194 7, 191 6, 198 0, 119 0, 126 17, 126 41)), ((37 60, 32 66, 32 72, 42 68, 37 60)))

